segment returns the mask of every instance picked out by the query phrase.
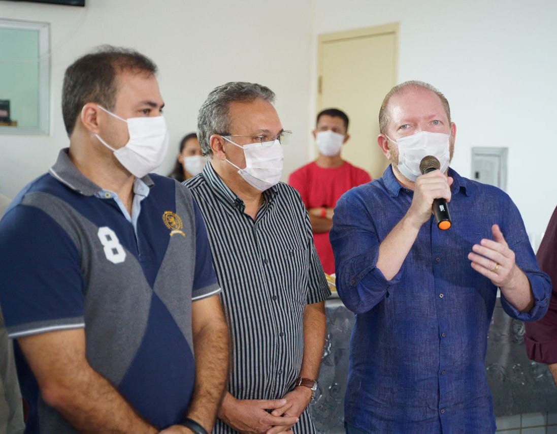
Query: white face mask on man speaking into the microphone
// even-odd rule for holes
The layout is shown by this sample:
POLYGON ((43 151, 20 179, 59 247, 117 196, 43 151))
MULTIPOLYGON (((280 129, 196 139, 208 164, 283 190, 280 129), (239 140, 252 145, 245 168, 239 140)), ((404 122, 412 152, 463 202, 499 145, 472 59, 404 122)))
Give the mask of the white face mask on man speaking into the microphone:
MULTIPOLYGON (((385 134, 386 135, 386 134, 385 134)), ((387 137, 391 142, 394 140, 387 137)), ((398 170, 412 182, 422 175, 419 163, 423 157, 432 155, 441 163, 441 172, 446 172, 451 162, 449 152, 449 134, 420 131, 412 136, 401 137, 395 143, 398 146, 398 170)))

